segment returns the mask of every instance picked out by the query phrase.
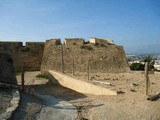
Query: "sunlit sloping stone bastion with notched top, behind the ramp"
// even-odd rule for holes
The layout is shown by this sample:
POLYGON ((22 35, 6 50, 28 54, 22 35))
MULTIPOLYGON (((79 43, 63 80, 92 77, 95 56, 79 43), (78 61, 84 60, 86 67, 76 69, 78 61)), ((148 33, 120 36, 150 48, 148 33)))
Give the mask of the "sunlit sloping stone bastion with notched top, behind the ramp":
POLYGON ((62 71, 62 64, 65 72, 72 72, 73 68, 75 72, 86 72, 88 64, 90 72, 129 71, 123 46, 100 38, 89 38, 88 42, 83 38, 67 38, 64 44, 61 44, 60 39, 47 40, 41 64, 42 73, 48 70, 62 71))

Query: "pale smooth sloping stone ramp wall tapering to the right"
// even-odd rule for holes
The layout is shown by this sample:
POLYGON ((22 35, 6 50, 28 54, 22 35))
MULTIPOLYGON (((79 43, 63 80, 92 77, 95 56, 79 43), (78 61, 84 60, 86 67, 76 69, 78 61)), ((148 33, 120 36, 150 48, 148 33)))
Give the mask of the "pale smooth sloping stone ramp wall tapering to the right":
POLYGON ((74 77, 70 77, 53 70, 49 70, 49 74, 54 78, 52 79, 53 83, 58 83, 79 93, 92 95, 117 95, 115 91, 101 86, 93 85, 86 81, 78 80, 74 77))

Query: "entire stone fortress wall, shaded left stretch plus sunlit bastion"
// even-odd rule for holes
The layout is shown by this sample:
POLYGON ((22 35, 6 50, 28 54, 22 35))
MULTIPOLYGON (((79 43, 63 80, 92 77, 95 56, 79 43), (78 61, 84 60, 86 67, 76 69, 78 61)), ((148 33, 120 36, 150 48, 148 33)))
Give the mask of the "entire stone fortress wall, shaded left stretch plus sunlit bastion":
POLYGON ((65 72, 126 72, 128 61, 123 46, 113 40, 102 38, 65 38, 64 44, 59 38, 46 42, 0 42, 0 53, 13 59, 15 70, 48 70, 65 72), (63 50, 63 52, 62 52, 63 50), (63 53, 63 58, 62 58, 63 53), (63 59, 63 62, 62 62, 63 59))

